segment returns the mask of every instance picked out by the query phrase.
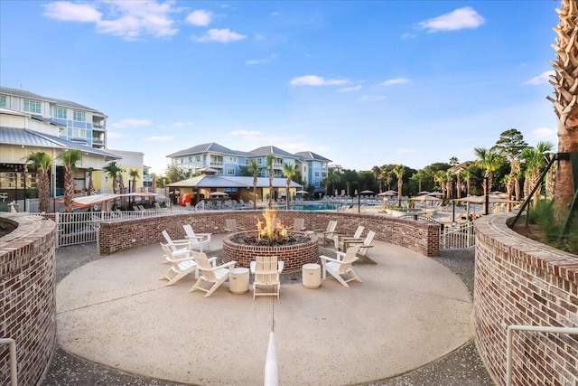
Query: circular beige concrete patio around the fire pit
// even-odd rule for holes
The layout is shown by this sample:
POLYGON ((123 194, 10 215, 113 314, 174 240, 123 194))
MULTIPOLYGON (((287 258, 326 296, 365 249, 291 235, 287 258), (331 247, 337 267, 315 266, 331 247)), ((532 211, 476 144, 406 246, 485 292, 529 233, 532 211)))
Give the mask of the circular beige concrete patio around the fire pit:
MULTIPOLYGON (((219 235, 213 249, 220 248, 219 235)), ((407 372, 472 338, 461 280, 415 252, 376 241, 363 283, 284 285, 281 299, 163 287, 154 245, 74 270, 57 287, 63 349, 122 372, 191 384, 262 384, 275 325, 281 384, 351 384, 407 372)), ((210 253, 209 253, 210 256, 210 253)))

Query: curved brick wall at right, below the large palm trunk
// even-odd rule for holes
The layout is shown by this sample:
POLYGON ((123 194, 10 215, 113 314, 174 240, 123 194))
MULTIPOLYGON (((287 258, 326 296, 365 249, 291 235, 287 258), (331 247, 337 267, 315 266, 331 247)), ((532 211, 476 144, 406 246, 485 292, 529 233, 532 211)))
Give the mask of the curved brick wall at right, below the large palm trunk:
MULTIPOLYGON (((578 256, 511 231, 511 216, 474 223, 476 343, 499 384, 506 384, 508 325, 578 327, 578 256)), ((513 336, 513 385, 578 385, 578 335, 513 336)))

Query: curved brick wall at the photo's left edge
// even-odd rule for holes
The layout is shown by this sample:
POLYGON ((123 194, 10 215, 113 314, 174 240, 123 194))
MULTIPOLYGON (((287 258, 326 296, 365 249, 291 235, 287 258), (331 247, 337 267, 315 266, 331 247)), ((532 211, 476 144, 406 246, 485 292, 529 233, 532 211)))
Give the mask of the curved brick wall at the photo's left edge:
MULTIPOLYGON (((0 337, 16 341, 18 384, 40 384, 56 343, 55 225, 3 213, 18 228, 0 238, 0 337)), ((10 384, 8 345, 0 345, 0 384, 10 384)))

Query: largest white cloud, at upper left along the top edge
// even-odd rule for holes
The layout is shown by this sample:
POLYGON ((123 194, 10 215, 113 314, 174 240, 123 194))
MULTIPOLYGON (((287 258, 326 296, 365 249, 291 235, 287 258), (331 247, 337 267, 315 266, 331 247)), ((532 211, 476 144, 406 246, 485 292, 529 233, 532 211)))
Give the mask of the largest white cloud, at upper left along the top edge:
POLYGON ((56 1, 44 5, 44 15, 65 22, 94 23, 98 33, 121 36, 135 40, 143 35, 154 37, 172 36, 178 32, 172 28, 169 16, 175 10, 172 2, 156 1, 108 1, 94 4, 76 4, 56 1), (98 8, 103 8, 103 14, 98 8))

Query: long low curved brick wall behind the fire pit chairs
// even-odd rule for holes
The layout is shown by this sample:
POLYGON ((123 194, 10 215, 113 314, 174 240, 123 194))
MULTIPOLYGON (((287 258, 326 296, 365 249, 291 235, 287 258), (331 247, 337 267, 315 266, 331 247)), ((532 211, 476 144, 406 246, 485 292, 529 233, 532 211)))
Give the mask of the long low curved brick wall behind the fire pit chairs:
MULTIPOLYGON (((247 230, 256 229, 256 219, 262 211, 181 212, 164 217, 144 218, 132 221, 103 222, 99 231, 100 253, 110 254, 120 250, 143 247, 163 241, 161 232, 166 230, 172 239, 185 236, 182 225, 191 224, 197 232, 225 233, 225 220, 236 219, 247 230)), ((429 222, 398 219, 374 213, 340 213, 323 211, 279 211, 277 218, 285 224, 293 224, 295 218, 303 218, 308 231, 325 230, 330 220, 337 220, 337 231, 353 234, 358 225, 365 232, 376 232, 376 240, 387 241, 415 250, 427 257, 439 256, 439 225, 429 222)), ((369 252, 370 254, 370 252, 369 252)))

